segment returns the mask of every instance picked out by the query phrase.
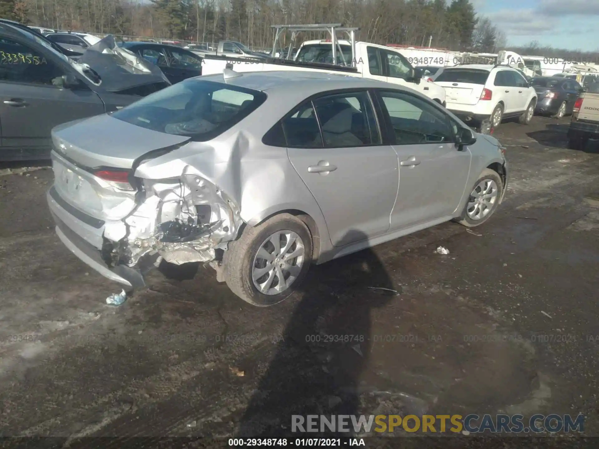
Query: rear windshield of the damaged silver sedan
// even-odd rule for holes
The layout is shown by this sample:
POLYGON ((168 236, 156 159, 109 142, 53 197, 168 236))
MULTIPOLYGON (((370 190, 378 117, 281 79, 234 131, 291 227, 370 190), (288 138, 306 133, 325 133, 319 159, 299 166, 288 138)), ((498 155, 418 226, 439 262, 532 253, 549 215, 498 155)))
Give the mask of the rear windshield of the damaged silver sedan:
POLYGON ((152 131, 208 141, 247 117, 266 99, 264 92, 189 79, 153 93, 112 114, 152 131))

